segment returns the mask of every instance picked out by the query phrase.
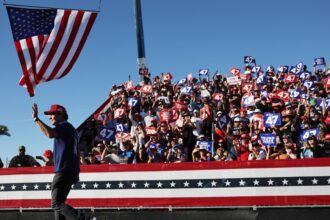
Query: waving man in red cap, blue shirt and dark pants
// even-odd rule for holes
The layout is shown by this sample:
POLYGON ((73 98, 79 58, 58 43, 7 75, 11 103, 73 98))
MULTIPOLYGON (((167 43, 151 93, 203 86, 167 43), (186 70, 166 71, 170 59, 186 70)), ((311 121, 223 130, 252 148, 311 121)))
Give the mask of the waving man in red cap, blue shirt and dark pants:
POLYGON ((67 121, 68 114, 63 106, 54 104, 45 115, 55 126, 49 127, 38 118, 38 106, 32 106, 32 118, 40 130, 48 137, 54 138, 54 169, 52 182, 52 208, 55 219, 77 219, 76 211, 65 204, 72 184, 79 180, 79 149, 76 129, 67 121))

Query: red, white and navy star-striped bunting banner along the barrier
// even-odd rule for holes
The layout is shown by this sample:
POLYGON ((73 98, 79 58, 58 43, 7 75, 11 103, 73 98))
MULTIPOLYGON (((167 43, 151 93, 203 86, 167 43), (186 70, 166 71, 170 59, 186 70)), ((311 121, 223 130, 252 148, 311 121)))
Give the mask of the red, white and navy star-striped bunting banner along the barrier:
MULTIPOLYGON (((329 206, 330 159, 81 166, 75 207, 329 206)), ((0 208, 49 208, 52 167, 0 169, 0 208)))

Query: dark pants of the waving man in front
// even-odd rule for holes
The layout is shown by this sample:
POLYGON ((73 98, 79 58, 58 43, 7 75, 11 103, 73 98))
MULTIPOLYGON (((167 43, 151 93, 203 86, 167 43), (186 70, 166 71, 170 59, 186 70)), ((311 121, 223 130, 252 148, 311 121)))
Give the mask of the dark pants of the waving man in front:
POLYGON ((52 209, 55 212, 55 220, 77 219, 76 211, 65 200, 70 192, 72 184, 77 183, 79 174, 56 173, 52 183, 52 209))

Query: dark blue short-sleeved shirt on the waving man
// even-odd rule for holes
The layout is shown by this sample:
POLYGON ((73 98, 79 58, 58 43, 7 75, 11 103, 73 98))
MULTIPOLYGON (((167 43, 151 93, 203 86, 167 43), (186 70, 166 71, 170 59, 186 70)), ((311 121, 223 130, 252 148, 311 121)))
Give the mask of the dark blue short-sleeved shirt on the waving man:
POLYGON ((61 173, 79 173, 79 148, 76 129, 69 123, 55 125, 57 138, 54 140, 54 169, 61 173))

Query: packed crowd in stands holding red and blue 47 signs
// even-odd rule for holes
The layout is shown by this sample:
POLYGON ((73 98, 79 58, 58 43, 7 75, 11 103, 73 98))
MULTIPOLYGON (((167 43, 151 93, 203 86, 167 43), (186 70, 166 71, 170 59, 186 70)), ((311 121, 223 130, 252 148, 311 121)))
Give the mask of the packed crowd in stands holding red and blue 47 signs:
POLYGON ((330 69, 255 62, 240 73, 171 73, 114 85, 81 133, 81 163, 176 163, 330 155, 330 69), (328 77, 329 76, 329 77, 328 77), (329 86, 328 86, 329 85, 329 86))

